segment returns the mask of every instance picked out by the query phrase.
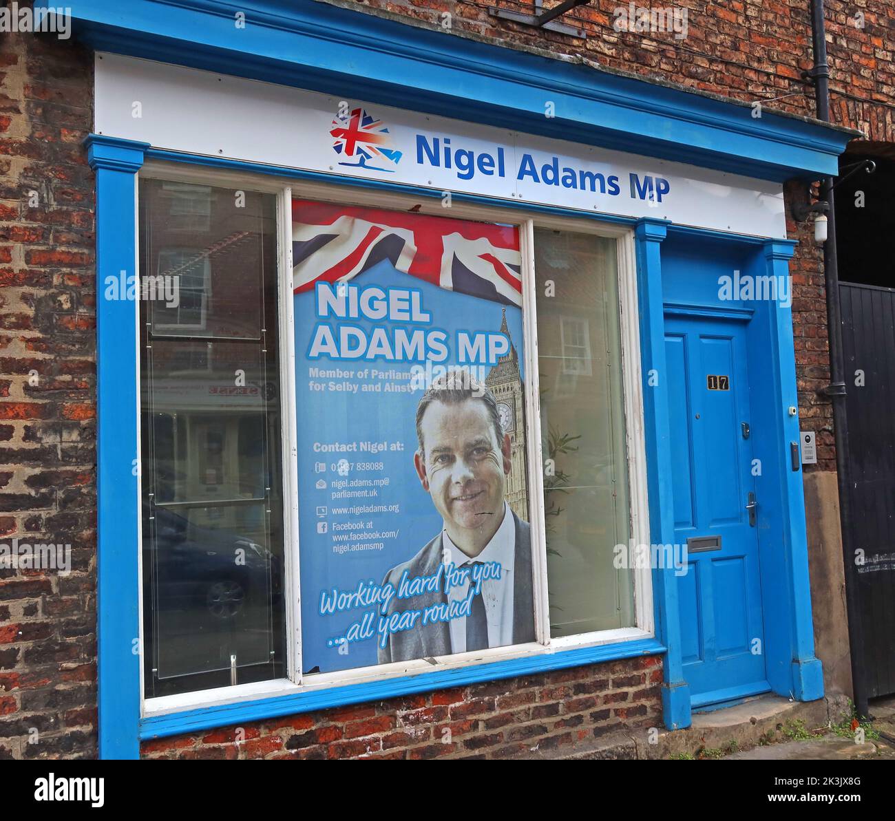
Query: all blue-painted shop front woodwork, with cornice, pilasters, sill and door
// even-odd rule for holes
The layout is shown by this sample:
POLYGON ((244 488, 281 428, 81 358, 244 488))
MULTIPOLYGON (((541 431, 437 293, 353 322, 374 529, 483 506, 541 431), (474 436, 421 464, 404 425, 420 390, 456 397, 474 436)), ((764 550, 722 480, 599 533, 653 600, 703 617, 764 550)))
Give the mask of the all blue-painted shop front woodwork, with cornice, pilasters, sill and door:
MULTIPOLYGON (((754 119, 736 106, 541 56, 421 30, 324 4, 249 4, 243 32, 213 4, 153 0, 126 8, 81 0, 72 16, 90 47, 163 63, 456 115, 550 140, 575 140, 644 157, 781 182, 836 174, 848 134, 796 118, 754 119), (374 48, 375 47, 375 48, 374 48), (367 66, 361 78, 345 66, 367 66), (542 115, 543 100, 558 116, 542 115), (619 101, 624 100, 624 105, 619 101)), ((97 133, 87 141, 97 174, 98 281, 133 265, 134 186, 147 162, 328 182, 325 172, 241 157, 171 150, 97 133)), ((438 199, 440 190, 370 179, 346 190, 438 199)), ((494 205, 459 191, 456 201, 494 205)), ((676 224, 501 199, 501 208, 597 220, 632 237, 642 373, 645 486, 653 545, 687 545, 689 571, 652 571, 652 637, 555 648, 542 655, 334 684, 212 707, 147 715, 141 662, 137 337, 134 305, 98 304, 99 734, 104 758, 136 758, 141 739, 265 717, 390 698, 473 681, 648 654, 662 654, 669 729, 693 708, 764 691, 823 696, 814 657, 805 512, 798 441, 790 306, 785 299, 722 298, 720 279, 788 283, 794 243, 676 224), (769 279, 770 278, 770 279, 769 279), (124 466, 124 467, 123 467, 124 466)), ((709 224, 704 222, 703 224, 709 224)))

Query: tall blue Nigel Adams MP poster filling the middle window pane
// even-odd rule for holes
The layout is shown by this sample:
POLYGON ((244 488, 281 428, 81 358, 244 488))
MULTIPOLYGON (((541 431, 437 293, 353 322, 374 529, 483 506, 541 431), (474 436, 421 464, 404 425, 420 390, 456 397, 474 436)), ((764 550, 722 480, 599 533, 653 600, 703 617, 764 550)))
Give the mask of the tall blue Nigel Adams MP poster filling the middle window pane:
POLYGON ((293 221, 303 673, 533 641, 518 228, 293 221))

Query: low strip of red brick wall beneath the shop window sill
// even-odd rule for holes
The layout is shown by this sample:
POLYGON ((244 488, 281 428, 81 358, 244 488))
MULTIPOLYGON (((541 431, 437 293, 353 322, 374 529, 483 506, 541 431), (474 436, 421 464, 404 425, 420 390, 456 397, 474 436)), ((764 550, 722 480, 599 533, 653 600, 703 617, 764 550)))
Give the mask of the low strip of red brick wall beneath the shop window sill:
POLYGON ((143 758, 561 756, 611 732, 661 728, 661 658, 644 656, 456 690, 145 741, 143 758))

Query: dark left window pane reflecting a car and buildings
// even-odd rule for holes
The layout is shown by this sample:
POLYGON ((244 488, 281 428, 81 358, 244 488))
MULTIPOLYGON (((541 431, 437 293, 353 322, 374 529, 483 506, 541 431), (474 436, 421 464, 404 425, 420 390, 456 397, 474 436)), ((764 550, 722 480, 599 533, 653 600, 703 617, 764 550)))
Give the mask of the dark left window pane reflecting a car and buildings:
POLYGON ((275 199, 140 195, 147 695, 281 678, 275 199))

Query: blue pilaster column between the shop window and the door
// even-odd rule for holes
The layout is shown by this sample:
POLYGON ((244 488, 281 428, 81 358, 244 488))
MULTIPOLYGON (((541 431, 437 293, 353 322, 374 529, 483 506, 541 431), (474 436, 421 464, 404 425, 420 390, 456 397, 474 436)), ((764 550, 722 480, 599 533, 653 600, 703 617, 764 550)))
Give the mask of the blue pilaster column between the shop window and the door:
MULTIPOLYGON (((665 367, 665 315, 662 304, 661 242, 668 223, 642 219, 635 229, 637 300, 640 311, 641 367, 644 383, 647 493, 652 544, 674 543, 669 383, 665 367)), ((690 688, 684 680, 674 568, 652 571, 656 636, 667 647, 663 663, 662 713, 669 730, 690 725, 690 688)))

